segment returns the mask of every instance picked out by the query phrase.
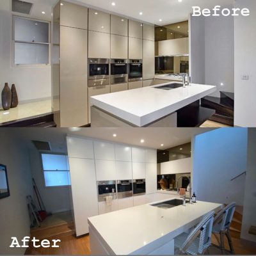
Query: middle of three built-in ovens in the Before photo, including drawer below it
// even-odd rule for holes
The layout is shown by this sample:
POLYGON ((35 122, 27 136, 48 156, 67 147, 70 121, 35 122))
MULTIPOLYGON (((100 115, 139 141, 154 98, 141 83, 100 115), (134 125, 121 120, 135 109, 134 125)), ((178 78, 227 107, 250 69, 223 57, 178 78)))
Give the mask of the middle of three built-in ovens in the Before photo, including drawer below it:
POLYGON ((122 84, 128 82, 128 61, 111 60, 111 84, 122 84))

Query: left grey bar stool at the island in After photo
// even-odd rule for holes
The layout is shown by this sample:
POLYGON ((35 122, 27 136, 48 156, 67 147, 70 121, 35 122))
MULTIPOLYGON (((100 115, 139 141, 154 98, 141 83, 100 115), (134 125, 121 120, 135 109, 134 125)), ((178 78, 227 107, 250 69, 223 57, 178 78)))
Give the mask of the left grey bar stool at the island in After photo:
POLYGON ((174 239, 175 254, 204 254, 212 243, 214 211, 209 212, 188 235, 182 233, 174 239))

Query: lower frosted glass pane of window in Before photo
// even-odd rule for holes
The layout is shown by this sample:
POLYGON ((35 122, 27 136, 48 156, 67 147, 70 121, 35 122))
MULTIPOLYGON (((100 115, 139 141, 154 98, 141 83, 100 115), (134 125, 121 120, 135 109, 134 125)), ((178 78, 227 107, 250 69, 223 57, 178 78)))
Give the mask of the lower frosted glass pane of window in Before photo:
POLYGON ((15 43, 15 65, 49 64, 49 45, 15 43))

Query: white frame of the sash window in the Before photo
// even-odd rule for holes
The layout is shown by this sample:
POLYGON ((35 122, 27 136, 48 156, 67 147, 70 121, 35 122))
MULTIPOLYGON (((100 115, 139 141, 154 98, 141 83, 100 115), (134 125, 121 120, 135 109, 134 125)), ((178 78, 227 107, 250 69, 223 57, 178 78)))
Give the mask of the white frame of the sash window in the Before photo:
POLYGON ((51 67, 51 21, 48 20, 40 20, 35 18, 26 17, 23 15, 12 15, 12 67, 19 68, 19 67, 51 67), (48 43, 40 43, 40 42, 25 42, 25 41, 15 41, 15 17, 21 18, 21 19, 27 19, 27 20, 33 20, 35 22, 44 22, 48 24, 48 33, 49 33, 49 42, 48 43), (26 44, 36 44, 36 45, 48 45, 48 64, 40 64, 40 63, 34 63, 34 64, 15 64, 15 43, 26 43, 26 44))

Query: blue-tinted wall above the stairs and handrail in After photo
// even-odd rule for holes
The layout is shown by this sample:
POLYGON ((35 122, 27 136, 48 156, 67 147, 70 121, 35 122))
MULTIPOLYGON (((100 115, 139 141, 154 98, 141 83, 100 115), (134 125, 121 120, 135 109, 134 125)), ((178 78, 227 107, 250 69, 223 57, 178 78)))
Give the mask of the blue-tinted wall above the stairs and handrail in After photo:
POLYGON ((193 191, 198 200, 243 205, 247 129, 217 129, 195 136, 193 143, 193 191))

